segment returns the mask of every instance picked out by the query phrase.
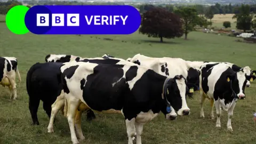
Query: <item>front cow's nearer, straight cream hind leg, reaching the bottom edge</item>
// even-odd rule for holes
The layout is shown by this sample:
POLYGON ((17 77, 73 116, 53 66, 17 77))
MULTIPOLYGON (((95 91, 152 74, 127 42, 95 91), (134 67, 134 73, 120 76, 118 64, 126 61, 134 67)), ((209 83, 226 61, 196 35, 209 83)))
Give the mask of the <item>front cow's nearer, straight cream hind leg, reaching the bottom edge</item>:
MULTIPOLYGON (((72 96, 69 96, 69 97, 72 97, 72 96)), ((71 140, 73 144, 79 143, 76 137, 75 121, 74 121, 78 105, 79 105, 78 99, 76 98, 67 99, 67 106, 68 106, 67 119, 68 119, 70 134, 71 134, 71 140)))

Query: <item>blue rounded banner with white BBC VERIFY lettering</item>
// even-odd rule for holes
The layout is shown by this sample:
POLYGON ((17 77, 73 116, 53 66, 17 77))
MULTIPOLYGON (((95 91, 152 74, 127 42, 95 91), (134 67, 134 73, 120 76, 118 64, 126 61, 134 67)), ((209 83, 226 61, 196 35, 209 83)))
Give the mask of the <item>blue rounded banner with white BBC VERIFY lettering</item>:
POLYGON ((28 30, 39 35, 127 35, 140 22, 130 5, 37 5, 25 16, 28 30))

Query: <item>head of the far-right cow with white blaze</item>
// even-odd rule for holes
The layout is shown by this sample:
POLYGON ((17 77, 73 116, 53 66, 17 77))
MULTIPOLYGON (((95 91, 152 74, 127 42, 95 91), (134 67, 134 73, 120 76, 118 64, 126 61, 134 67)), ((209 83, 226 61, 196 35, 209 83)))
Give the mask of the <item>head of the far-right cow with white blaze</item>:
POLYGON ((227 75, 227 82, 230 84, 233 91, 233 97, 238 99, 245 99, 245 85, 247 81, 253 81, 256 76, 246 75, 242 70, 239 70, 231 75, 227 75))

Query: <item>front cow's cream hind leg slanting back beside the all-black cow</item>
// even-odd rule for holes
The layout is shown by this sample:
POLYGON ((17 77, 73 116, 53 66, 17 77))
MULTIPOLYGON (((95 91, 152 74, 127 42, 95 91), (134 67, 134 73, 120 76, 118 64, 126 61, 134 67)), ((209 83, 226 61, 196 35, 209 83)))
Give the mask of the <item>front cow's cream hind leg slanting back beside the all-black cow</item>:
POLYGON ((58 114, 59 110, 64 106, 64 104, 65 104, 65 101, 62 96, 57 97, 56 101, 52 104, 50 122, 47 127, 49 133, 54 132, 53 131, 53 123, 55 120, 55 116, 58 114))

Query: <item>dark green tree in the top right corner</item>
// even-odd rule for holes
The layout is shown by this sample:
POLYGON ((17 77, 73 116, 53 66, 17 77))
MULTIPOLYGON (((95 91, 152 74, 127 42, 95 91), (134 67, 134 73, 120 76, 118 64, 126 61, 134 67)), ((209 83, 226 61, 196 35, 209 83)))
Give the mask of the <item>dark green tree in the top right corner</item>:
POLYGON ((233 16, 233 19, 236 19, 236 28, 250 30, 252 26, 253 15, 250 13, 250 6, 242 4, 238 8, 238 13, 233 16))

